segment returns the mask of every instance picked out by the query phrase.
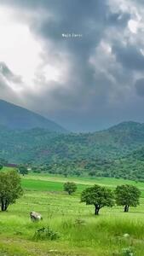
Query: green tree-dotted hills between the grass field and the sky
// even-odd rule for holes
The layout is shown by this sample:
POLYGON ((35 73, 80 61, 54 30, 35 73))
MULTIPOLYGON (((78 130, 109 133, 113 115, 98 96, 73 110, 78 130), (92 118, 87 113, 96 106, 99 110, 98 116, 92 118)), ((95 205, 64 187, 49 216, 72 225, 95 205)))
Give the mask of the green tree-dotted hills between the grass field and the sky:
POLYGON ((0 127, 0 140, 0 159, 28 164, 34 172, 144 181, 144 125, 138 123, 86 134, 0 127))

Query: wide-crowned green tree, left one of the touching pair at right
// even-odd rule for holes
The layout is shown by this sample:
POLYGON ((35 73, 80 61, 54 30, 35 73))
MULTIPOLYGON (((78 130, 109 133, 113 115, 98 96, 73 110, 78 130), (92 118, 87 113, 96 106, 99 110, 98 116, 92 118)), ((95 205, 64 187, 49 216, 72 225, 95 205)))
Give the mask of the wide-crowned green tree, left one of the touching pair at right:
POLYGON ((114 205, 114 195, 111 189, 95 185, 84 189, 81 202, 85 202, 86 205, 94 205, 95 215, 98 215, 102 207, 112 207, 114 205))

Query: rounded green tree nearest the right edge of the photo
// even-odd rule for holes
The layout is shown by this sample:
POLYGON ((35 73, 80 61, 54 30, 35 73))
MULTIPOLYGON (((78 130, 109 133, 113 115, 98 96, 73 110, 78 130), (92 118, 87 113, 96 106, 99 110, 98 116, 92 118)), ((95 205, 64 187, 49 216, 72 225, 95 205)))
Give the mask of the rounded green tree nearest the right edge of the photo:
POLYGON ((129 207, 137 207, 141 191, 133 185, 120 185, 115 190, 118 206, 124 206, 124 212, 129 212, 129 207))

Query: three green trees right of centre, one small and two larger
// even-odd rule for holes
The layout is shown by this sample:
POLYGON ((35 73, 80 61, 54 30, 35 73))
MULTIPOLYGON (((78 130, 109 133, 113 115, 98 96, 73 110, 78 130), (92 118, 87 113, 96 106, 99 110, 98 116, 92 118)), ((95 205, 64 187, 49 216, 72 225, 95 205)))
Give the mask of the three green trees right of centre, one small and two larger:
MULTIPOLYGON (((75 183, 64 184, 64 190, 69 195, 72 195, 76 189, 75 183)), ((99 214, 102 207, 113 207, 115 203, 118 206, 124 206, 124 212, 129 212, 129 207, 137 207, 140 204, 140 195, 140 189, 129 184, 117 186, 114 191, 104 186, 95 185, 84 189, 81 194, 81 202, 85 202, 86 205, 94 205, 95 215, 99 214)))

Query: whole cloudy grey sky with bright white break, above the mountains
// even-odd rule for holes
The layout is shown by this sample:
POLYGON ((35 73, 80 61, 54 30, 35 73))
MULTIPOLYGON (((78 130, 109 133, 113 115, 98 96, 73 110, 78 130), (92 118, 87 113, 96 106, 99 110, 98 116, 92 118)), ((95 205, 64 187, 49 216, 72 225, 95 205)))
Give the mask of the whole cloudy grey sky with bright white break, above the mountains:
POLYGON ((0 98, 70 131, 144 122, 144 1, 0 0, 0 98))

